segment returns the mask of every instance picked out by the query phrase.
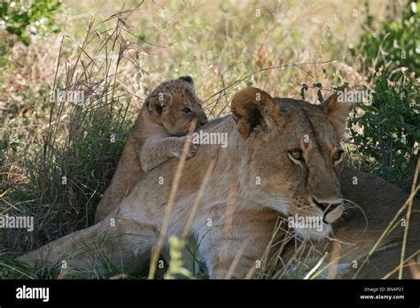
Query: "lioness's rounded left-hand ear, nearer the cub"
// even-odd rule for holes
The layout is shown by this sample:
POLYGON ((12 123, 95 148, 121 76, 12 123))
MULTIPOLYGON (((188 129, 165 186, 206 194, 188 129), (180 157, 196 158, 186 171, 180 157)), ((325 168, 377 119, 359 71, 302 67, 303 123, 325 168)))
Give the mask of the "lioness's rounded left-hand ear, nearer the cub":
POLYGON ((280 124, 280 107, 274 98, 261 89, 242 89, 233 96, 230 105, 232 118, 244 139, 258 129, 273 133, 280 124))

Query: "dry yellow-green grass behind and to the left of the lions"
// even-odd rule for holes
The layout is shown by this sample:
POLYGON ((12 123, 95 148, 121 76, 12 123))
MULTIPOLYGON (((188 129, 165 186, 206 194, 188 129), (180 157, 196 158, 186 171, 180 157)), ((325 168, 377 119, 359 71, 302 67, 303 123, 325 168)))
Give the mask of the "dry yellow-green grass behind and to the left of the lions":
MULTIPOLYGON (((58 35, 25 46, 0 32, 0 137, 14 148, 0 152, 0 213, 34 216, 36 225, 31 235, 2 231, 0 277, 14 256, 93 222, 131 119, 160 81, 191 75, 209 118, 229 112, 232 94, 249 85, 294 98, 304 83, 322 83, 324 96, 345 82, 369 87, 348 47, 369 31, 367 10, 382 18, 386 4, 68 0, 58 35), (84 91, 86 106, 51 104, 52 89, 84 91)), ((306 99, 316 103, 317 89, 306 99)), ((260 278, 304 277, 310 266, 260 278)), ((99 277, 116 274, 111 267, 99 277)))

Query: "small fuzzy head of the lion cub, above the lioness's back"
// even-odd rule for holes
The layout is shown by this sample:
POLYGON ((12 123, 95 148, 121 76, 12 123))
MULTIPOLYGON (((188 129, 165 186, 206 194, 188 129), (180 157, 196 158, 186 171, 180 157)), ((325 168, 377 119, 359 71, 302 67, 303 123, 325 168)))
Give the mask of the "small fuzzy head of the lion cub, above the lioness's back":
POLYGON ((187 135, 195 119, 196 127, 207 122, 190 76, 161 83, 144 104, 152 119, 164 127, 169 135, 187 135))

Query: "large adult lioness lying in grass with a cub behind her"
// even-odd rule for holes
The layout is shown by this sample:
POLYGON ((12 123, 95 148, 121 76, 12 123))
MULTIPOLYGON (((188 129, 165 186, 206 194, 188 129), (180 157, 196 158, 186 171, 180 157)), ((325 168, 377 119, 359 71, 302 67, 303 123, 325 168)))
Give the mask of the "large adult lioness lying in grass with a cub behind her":
MULTIPOLYGON (((316 106, 249 88, 237 92, 231 110, 232 117, 202 127, 205 133, 227 133, 229 146, 201 145, 196 156, 186 162, 165 235, 166 239, 181 235, 189 227, 201 239, 199 252, 214 278, 226 276, 238 250, 244 253, 231 276, 243 277, 254 266, 269 240, 266 236, 255 241, 254 235, 272 226, 276 212, 320 219, 322 230, 295 228, 299 235, 317 240, 331 233, 331 224, 343 212, 338 179, 344 153, 339 141, 349 105, 339 104, 337 96, 316 106), (191 226, 186 226, 200 183, 213 161, 198 210, 191 226), (245 223, 240 232, 235 225, 229 231, 222 227, 227 223, 227 205, 241 218, 236 224, 245 223)), ((159 237, 175 166, 171 159, 144 173, 121 207, 105 219, 20 259, 34 266, 40 258, 54 263, 66 256, 67 265, 90 266, 92 251, 83 248, 108 234, 101 249, 107 250, 116 264, 133 266, 138 255, 147 255, 159 237), (165 184, 159 185, 162 174, 165 184), (69 257, 74 250, 74 258, 69 257)))

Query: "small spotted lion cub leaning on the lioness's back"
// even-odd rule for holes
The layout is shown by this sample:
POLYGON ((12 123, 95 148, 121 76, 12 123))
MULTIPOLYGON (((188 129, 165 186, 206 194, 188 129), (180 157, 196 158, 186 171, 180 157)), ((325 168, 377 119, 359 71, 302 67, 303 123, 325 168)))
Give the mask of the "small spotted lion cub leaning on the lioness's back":
MULTIPOLYGON (((143 172, 181 157, 193 119, 197 119, 196 127, 207 122, 190 76, 165 81, 152 91, 131 128, 113 180, 97 205, 96 222, 121 204, 143 172)), ((197 145, 191 143, 188 158, 195 150, 197 145)))

